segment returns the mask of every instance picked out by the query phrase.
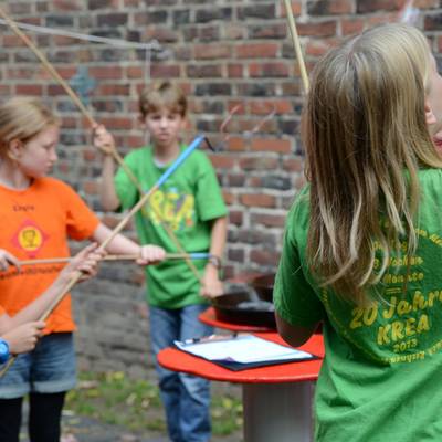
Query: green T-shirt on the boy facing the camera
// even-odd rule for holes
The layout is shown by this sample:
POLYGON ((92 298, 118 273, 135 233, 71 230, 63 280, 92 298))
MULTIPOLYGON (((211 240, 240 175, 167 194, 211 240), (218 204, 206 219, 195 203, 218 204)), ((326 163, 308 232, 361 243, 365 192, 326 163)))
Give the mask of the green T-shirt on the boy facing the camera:
MULTIPOLYGON (((181 151, 183 146, 180 148, 181 151)), ((147 192, 170 165, 157 166, 152 149, 143 147, 125 157, 143 190, 147 192)), ((139 200, 139 192, 120 168, 115 188, 123 209, 139 200)), ((167 252, 177 252, 175 243, 159 223, 167 222, 180 244, 189 252, 208 252, 211 221, 224 217, 227 209, 213 167, 202 151, 193 151, 161 188, 135 215, 141 244, 158 244, 167 252), (156 211, 152 210, 156 208, 156 211)), ((204 260, 193 261, 202 275, 204 260)), ((168 260, 146 267, 148 302, 164 308, 181 308, 206 301, 199 295, 200 284, 185 260, 168 260)))

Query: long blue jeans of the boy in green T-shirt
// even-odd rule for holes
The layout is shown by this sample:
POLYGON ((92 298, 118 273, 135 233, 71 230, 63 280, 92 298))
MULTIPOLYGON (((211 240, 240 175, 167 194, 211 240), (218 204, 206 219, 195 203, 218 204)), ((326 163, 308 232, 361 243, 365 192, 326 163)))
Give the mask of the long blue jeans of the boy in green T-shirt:
POLYGON ((212 327, 198 319, 206 308, 207 305, 190 305, 177 309, 150 306, 151 349, 172 442, 210 440, 210 383, 206 379, 160 367, 156 356, 159 350, 170 347, 173 340, 211 335, 212 327))

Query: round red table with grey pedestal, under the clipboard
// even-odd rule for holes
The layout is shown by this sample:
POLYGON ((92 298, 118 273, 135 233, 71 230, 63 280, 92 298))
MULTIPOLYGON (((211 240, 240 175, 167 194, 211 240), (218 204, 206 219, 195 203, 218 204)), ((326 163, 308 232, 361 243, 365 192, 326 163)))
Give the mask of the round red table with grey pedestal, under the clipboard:
MULTIPOLYGON (((276 333, 254 335, 283 344, 276 333)), ((299 349, 324 357, 323 336, 312 336, 299 349)), ((169 370, 241 383, 244 442, 312 441, 312 390, 322 359, 232 371, 169 347, 158 354, 158 361, 169 370)))

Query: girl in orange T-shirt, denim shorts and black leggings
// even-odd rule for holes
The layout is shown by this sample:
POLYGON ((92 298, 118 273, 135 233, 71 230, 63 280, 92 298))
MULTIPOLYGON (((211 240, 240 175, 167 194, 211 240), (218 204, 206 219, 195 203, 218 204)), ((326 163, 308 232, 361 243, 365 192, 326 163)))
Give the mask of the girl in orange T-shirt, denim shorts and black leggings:
MULTIPOLYGON (((11 317, 45 292, 61 271, 40 264, 19 272, 15 259, 69 256, 69 239, 101 243, 110 234, 71 187, 46 177, 57 159, 59 133, 59 119, 38 99, 18 97, 0 106, 0 305, 11 317)), ((161 248, 139 246, 123 235, 107 250, 138 254, 139 264, 165 256, 161 248)), ((48 317, 35 350, 19 355, 0 379, 0 441, 19 441, 28 393, 30 440, 60 441, 65 392, 76 382, 74 329, 66 296, 48 317)))

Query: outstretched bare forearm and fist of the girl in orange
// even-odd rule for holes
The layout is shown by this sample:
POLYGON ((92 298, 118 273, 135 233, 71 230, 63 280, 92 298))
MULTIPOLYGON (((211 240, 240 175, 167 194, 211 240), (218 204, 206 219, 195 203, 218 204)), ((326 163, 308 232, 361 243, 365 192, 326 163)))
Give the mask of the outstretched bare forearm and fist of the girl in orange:
MULTIPOLYGON (((93 233, 93 239, 98 243, 104 242, 112 231, 109 228, 99 223, 93 233)), ((157 245, 138 245, 128 238, 117 234, 107 245, 106 251, 112 254, 136 254, 139 256, 137 263, 140 265, 154 264, 162 261, 166 257, 166 252, 157 245)))

